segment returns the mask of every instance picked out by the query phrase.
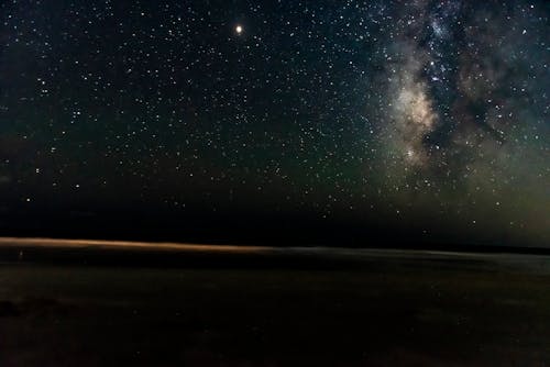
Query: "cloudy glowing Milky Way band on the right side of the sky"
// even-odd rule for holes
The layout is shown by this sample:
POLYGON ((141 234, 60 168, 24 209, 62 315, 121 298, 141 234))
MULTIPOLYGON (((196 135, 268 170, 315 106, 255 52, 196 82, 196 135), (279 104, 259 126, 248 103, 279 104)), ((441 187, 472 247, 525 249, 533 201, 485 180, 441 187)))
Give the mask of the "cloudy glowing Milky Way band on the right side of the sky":
POLYGON ((473 225, 481 218, 528 232, 526 218, 548 225, 550 203, 549 47, 534 30, 547 19, 526 15, 532 3, 493 5, 418 1, 404 10, 383 138, 403 204, 431 200, 469 212, 473 225))

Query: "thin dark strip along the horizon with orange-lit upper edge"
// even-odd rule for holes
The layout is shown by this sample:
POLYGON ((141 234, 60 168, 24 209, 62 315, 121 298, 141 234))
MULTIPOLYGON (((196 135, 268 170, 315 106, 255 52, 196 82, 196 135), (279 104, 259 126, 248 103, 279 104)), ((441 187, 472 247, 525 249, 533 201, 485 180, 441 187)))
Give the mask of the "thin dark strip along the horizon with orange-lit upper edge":
POLYGON ((232 267, 364 267, 380 260, 446 263, 530 263, 534 257, 550 264, 550 248, 495 246, 330 247, 250 246, 177 242, 135 242, 52 237, 0 237, 0 262, 52 264, 107 264, 232 267))

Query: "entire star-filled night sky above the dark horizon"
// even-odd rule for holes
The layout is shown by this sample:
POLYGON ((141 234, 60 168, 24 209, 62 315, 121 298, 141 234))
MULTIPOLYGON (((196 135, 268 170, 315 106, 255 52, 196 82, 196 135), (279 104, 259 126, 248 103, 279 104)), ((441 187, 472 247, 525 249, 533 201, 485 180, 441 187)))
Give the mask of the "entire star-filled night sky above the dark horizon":
POLYGON ((549 18, 1 1, 0 230, 550 246, 549 18))

